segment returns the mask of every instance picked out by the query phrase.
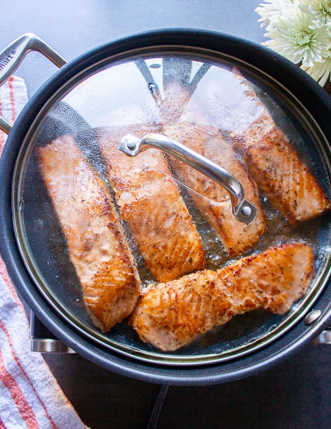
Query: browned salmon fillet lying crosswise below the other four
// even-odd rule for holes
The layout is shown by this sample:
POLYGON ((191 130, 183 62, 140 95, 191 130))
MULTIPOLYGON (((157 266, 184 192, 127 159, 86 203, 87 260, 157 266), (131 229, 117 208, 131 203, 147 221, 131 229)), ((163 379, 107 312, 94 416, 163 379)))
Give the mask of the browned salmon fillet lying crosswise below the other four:
POLYGON ((174 351, 234 315, 262 308, 287 312, 309 288, 313 251, 301 243, 272 247, 218 271, 152 285, 130 323, 142 341, 174 351))

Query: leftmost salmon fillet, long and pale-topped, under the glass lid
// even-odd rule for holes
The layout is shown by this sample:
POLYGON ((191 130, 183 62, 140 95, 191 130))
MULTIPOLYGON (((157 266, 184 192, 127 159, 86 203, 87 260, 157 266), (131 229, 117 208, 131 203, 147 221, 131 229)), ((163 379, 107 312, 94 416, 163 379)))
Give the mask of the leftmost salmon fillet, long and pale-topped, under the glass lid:
POLYGON ((74 137, 57 138, 37 155, 86 308, 94 324, 108 331, 132 312, 140 287, 113 202, 74 137))

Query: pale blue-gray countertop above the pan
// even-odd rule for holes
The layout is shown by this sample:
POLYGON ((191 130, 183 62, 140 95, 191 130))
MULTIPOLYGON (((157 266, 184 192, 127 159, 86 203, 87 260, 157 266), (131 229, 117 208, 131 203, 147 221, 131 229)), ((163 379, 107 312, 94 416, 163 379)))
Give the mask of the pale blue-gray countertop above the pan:
MULTIPOLYGON (((35 33, 66 60, 109 40, 157 28, 201 28, 260 42, 258 1, 70 0, 2 1, 1 46, 35 33)), ((29 94, 54 72, 41 54, 29 54, 19 69, 29 94)))

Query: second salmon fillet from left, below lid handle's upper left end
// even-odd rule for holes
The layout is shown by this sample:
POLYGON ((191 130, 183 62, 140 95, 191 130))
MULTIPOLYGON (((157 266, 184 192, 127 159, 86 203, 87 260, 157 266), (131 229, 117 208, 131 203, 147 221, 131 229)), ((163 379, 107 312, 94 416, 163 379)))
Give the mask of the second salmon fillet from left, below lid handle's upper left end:
MULTIPOLYGON (((100 148, 120 217, 127 222, 147 269, 158 281, 203 269, 201 237, 165 155, 157 149, 135 157, 123 154, 118 145, 126 134, 128 129, 100 131, 100 148)), ((134 134, 144 135, 138 130, 134 134)))

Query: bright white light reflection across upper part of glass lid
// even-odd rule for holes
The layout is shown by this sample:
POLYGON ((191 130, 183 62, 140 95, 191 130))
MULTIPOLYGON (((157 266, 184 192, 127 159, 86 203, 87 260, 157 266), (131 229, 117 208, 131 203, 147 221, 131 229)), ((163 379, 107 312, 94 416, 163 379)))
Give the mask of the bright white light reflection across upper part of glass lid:
POLYGON ((198 104, 205 113, 199 122, 241 133, 260 115, 260 104, 255 97, 247 97, 249 88, 235 70, 172 57, 150 58, 104 69, 85 79, 63 101, 92 127, 158 124, 162 122, 159 107, 167 96, 172 96, 167 95, 164 85, 165 64, 169 61, 177 61, 180 66, 184 62, 184 69, 188 68, 184 78, 180 66, 172 76, 189 89, 183 120, 197 120, 194 106, 198 104))

